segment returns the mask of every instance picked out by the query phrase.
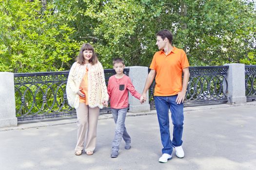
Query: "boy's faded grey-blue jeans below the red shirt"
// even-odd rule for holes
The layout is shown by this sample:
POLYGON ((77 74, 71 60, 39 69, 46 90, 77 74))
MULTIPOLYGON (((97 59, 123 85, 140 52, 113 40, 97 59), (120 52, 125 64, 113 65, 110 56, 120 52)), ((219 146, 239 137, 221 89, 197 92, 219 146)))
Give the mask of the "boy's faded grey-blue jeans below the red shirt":
POLYGON ((112 149, 118 151, 122 138, 126 143, 131 142, 131 137, 127 133, 125 124, 124 124, 127 108, 124 108, 124 109, 111 108, 111 112, 112 112, 114 121, 116 123, 116 133, 115 133, 114 140, 112 142, 112 149))

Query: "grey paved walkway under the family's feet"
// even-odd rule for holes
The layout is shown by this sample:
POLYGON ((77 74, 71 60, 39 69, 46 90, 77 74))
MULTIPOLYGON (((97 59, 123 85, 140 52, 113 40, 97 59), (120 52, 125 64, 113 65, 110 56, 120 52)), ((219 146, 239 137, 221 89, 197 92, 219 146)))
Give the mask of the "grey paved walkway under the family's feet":
MULTIPOLYGON (((20 124, 0 129, 0 170, 256 170, 256 102, 185 108, 183 149, 158 163, 161 141, 155 111, 128 114, 132 149, 110 158, 115 124, 98 121, 97 148, 91 156, 74 154, 76 119, 20 124)), ((172 127, 170 128, 172 131, 172 127)))

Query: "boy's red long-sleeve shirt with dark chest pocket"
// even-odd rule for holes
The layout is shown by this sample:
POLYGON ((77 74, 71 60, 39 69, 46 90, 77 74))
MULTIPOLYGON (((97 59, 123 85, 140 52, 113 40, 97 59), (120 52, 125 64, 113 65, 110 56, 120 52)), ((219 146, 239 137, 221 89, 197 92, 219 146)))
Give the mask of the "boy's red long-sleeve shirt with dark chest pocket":
POLYGON ((130 93, 140 99, 140 94, 135 90, 131 79, 124 75, 117 79, 115 75, 108 81, 108 95, 110 98, 110 107, 114 109, 123 109, 128 107, 128 90, 130 93))

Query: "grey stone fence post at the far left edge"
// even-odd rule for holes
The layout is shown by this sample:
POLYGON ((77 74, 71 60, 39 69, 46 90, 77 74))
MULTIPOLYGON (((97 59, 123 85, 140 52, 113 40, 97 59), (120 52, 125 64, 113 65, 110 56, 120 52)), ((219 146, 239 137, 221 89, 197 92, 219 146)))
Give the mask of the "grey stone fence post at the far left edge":
POLYGON ((0 72, 0 128, 17 126, 14 74, 0 72))

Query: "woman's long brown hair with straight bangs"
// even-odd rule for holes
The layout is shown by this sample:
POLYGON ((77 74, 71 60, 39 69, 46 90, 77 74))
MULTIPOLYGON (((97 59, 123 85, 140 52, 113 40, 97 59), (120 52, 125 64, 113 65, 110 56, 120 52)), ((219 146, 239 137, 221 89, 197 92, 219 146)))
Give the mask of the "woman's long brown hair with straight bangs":
POLYGON ((85 50, 89 50, 89 51, 93 51, 93 56, 92 58, 89 60, 89 63, 91 63, 92 65, 98 63, 98 57, 94 51, 94 48, 91 44, 89 43, 85 43, 81 46, 80 48, 80 51, 79 51, 79 55, 77 57, 77 62, 80 64, 80 65, 83 65, 85 64, 85 59, 83 57, 83 51, 85 50))

